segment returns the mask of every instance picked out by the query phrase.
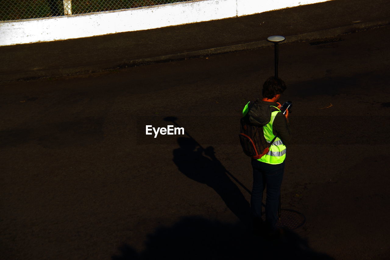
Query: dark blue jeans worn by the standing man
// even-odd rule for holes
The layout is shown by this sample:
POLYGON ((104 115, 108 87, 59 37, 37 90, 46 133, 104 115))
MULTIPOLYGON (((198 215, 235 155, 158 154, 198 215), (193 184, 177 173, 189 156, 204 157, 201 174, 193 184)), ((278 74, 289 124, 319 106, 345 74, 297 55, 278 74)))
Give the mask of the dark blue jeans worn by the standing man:
POLYGON ((281 164, 267 164, 252 159, 253 188, 250 198, 250 207, 254 218, 261 218, 261 203, 263 191, 267 187, 266 198, 266 223, 275 230, 278 221, 278 206, 280 186, 282 185, 284 162, 281 164))

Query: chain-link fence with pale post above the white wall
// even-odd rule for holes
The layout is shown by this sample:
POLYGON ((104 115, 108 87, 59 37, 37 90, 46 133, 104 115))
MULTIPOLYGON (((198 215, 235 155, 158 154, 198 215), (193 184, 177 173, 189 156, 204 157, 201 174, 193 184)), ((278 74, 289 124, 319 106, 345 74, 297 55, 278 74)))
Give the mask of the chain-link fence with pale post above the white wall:
POLYGON ((190 0, 0 0, 0 21, 87 14, 190 0))

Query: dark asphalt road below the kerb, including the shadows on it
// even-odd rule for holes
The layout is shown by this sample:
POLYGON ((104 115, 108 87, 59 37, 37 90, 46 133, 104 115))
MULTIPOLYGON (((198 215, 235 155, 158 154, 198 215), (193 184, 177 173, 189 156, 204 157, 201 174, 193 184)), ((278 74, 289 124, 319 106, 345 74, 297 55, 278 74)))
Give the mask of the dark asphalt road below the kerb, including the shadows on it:
POLYGON ((1 84, 2 259, 388 259, 389 28, 280 45, 282 208, 306 223, 276 241, 246 229, 238 141, 271 46, 1 84), (145 135, 167 116, 190 137, 145 135))

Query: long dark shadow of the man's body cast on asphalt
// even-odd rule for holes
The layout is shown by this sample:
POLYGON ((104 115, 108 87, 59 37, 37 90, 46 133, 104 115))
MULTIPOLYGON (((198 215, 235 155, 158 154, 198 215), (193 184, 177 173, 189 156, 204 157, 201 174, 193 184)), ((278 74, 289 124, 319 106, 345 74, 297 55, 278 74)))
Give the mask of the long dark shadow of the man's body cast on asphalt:
POLYGON ((188 137, 180 137, 177 142, 180 148, 173 151, 173 161, 179 171, 188 178, 213 188, 240 221, 249 226, 249 203, 230 180, 225 167, 215 157, 214 148, 209 146, 203 149, 194 139, 188 137))

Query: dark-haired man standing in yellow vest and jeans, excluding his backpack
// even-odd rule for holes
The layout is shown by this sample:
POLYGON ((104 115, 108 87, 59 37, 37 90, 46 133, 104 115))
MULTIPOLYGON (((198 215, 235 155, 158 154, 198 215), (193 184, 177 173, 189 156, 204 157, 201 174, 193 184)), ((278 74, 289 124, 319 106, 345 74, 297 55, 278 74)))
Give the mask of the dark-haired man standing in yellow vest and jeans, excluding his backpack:
POLYGON ((253 189, 250 204, 254 217, 254 231, 260 232, 263 226, 261 219, 261 205, 263 191, 267 188, 266 198, 266 227, 269 231, 275 231, 278 220, 280 186, 284 173, 284 160, 286 157, 286 145, 289 144, 291 133, 289 128, 289 112, 285 115, 280 112, 280 103, 277 101, 286 89, 286 85, 280 78, 270 77, 264 82, 262 99, 248 102, 243 110, 243 116, 248 116, 252 125, 262 126, 267 142, 276 139, 266 153, 260 159, 252 158, 253 189))

